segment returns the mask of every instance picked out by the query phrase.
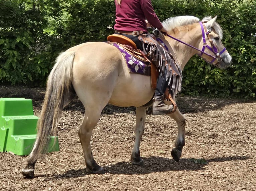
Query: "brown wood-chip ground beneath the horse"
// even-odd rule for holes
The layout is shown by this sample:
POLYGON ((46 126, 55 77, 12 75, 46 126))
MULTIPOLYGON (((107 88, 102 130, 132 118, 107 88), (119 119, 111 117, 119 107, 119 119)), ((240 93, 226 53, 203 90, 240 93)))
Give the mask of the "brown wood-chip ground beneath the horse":
MULTIPOLYGON (((2 86, 0 97, 32 99, 39 116, 44 91, 2 86)), ((256 190, 256 101, 177 96, 177 105, 186 119, 179 162, 170 154, 175 121, 148 114, 140 147, 145 166, 131 164, 136 108, 107 105, 91 141, 94 158, 106 173, 88 174, 77 133, 85 110, 74 99, 59 121, 60 151, 38 160, 34 179, 20 173, 24 156, 0 153, 0 190, 256 190)))

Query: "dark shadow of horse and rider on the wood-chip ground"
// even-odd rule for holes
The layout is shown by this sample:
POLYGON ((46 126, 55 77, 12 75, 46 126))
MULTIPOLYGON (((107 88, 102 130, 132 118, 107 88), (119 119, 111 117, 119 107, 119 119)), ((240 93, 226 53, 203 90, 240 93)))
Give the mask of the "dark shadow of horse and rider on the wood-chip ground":
MULTIPOLYGON (((105 173, 110 174, 149 174, 153 172, 166 172, 166 171, 197 171, 204 170, 204 166, 206 166, 209 162, 224 162, 224 161, 234 161, 234 160, 247 160, 248 156, 228 156, 228 157, 217 157, 206 160, 206 164, 195 163, 187 158, 182 158, 179 162, 175 162, 173 159, 165 158, 165 157, 146 157, 143 158, 145 165, 137 166, 133 165, 131 162, 118 162, 113 165, 104 166, 105 173)), ((198 159, 205 160, 205 159, 198 159)), ((63 174, 54 174, 52 176, 48 176, 48 178, 77 178, 89 175, 86 168, 83 169, 71 169, 63 174)), ((47 176, 44 176, 47 177, 47 176)))

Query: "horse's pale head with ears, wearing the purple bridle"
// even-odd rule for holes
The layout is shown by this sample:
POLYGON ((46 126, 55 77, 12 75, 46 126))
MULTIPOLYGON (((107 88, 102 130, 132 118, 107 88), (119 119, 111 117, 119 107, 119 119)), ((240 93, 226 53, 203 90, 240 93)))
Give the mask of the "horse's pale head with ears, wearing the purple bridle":
POLYGON ((221 42, 222 29, 216 23, 216 19, 217 16, 213 19, 205 17, 202 22, 199 22, 202 31, 201 47, 203 47, 199 55, 218 68, 227 68, 232 58, 221 42))

